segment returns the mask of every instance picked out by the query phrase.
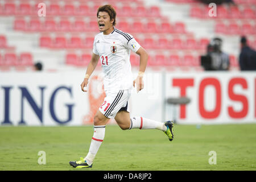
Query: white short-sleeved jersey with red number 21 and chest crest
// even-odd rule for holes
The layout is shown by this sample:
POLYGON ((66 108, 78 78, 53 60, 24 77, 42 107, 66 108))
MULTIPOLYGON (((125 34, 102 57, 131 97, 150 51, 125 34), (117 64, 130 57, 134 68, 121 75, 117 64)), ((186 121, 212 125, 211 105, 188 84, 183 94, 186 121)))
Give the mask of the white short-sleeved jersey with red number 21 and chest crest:
POLYGON ((109 35, 101 32, 95 36, 93 53, 100 56, 105 92, 132 89, 130 52, 140 47, 133 36, 117 28, 109 35))

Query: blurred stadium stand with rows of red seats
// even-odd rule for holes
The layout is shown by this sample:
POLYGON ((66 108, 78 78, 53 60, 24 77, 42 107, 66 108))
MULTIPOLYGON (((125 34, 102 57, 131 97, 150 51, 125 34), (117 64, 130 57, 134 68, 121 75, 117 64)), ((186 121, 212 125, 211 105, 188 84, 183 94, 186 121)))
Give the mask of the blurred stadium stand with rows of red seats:
MULTIPOLYGON (((10 45, 15 47, 13 53, 0 52, 1 66, 30 66, 34 60, 43 60, 46 68, 69 69, 71 65, 84 68, 90 59, 94 35, 98 33, 96 11, 106 2, 117 10, 116 27, 132 34, 147 49, 151 68, 201 68, 199 55, 205 53, 213 36, 224 38, 224 49, 230 54, 234 68, 238 67, 241 35, 248 35, 250 45, 256 47, 253 0, 235 1, 237 6, 221 5, 216 18, 208 16, 207 5, 195 0, 45 1, 46 17, 38 16, 39 2, 0 1, 3 26, 0 48, 9 46, 7 37, 13 40, 20 36, 10 45), (202 30, 198 31, 199 28, 202 30), (28 46, 26 49, 24 44, 28 46)), ((134 53, 130 61, 134 66, 139 65, 134 53)))

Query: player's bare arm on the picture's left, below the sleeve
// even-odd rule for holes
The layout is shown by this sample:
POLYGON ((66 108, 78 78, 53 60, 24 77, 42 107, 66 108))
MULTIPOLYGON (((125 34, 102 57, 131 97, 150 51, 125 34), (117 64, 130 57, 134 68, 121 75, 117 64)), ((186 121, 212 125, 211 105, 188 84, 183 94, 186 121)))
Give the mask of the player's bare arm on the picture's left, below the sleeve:
POLYGON ((81 89, 83 92, 87 92, 87 90, 85 90, 84 87, 87 86, 89 77, 90 77, 90 75, 92 75, 94 69, 96 68, 99 59, 100 59, 99 55, 92 53, 92 59, 90 60, 90 62, 88 64, 84 81, 82 81, 82 83, 81 83, 81 89))

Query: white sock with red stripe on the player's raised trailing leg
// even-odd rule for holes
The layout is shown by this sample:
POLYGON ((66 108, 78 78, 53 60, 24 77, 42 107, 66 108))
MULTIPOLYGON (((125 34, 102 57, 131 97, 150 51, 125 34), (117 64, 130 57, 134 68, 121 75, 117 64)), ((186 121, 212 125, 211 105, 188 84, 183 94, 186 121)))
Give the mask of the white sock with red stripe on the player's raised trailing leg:
POLYGON ((154 121, 147 118, 142 117, 133 117, 130 118, 131 125, 130 129, 158 129, 162 131, 166 131, 167 127, 163 122, 154 121))

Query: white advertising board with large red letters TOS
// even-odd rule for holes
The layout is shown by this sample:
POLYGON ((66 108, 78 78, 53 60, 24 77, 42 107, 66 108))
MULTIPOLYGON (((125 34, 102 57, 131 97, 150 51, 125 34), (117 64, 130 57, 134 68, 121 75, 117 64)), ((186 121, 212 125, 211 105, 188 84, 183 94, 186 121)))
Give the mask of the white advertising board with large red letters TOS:
POLYGON ((175 106, 179 123, 256 122, 255 72, 168 73, 165 85, 166 98, 191 100, 175 106))

